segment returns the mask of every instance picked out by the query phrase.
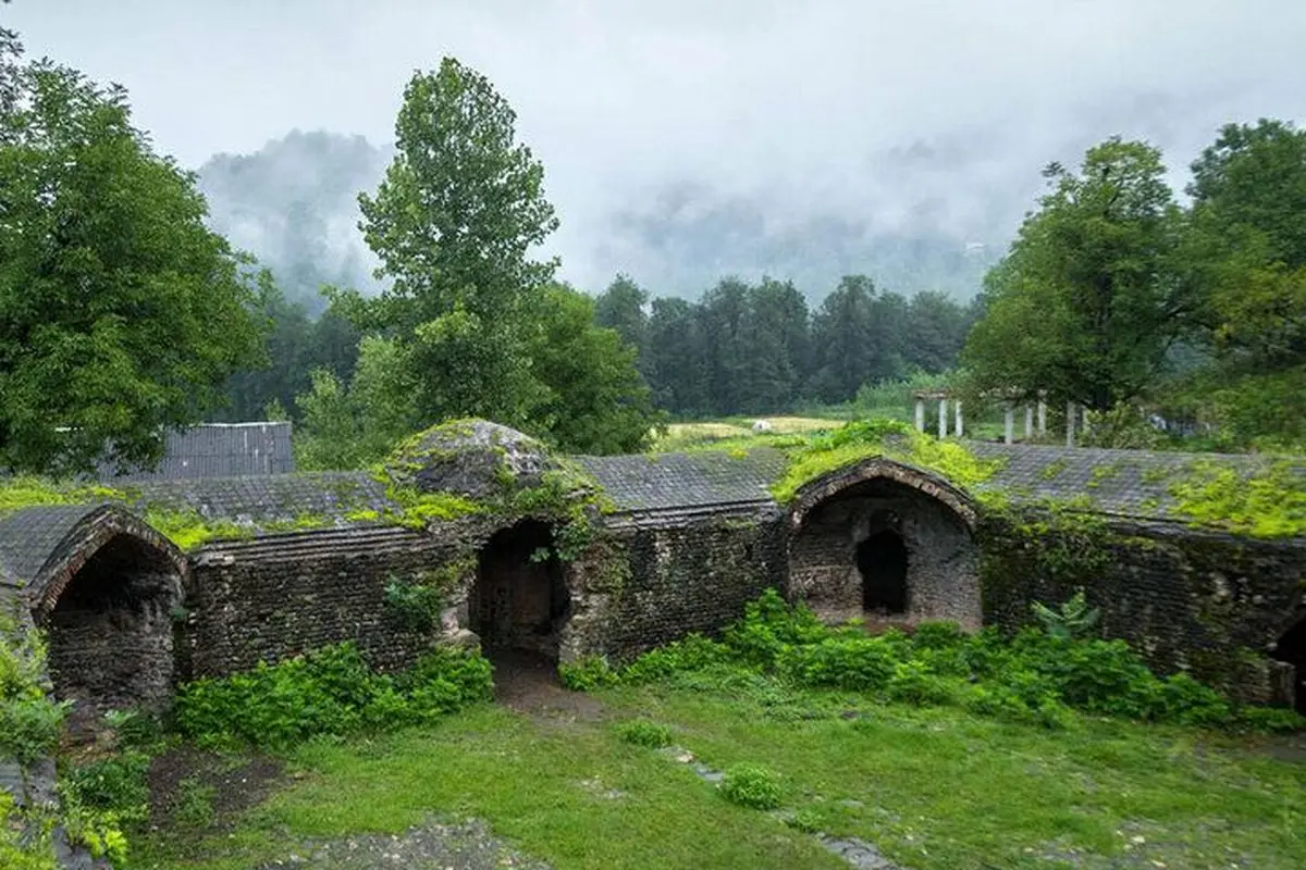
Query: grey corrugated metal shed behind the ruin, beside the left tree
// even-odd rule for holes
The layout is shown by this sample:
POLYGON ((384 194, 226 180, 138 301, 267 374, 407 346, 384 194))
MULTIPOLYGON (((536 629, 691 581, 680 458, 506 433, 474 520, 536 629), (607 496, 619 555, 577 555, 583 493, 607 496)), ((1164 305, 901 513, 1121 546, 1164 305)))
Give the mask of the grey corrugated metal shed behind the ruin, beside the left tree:
POLYGON ((205 423, 170 432, 163 459, 153 471, 116 475, 102 463, 98 477, 111 484, 283 475, 295 470, 289 423, 205 423))

